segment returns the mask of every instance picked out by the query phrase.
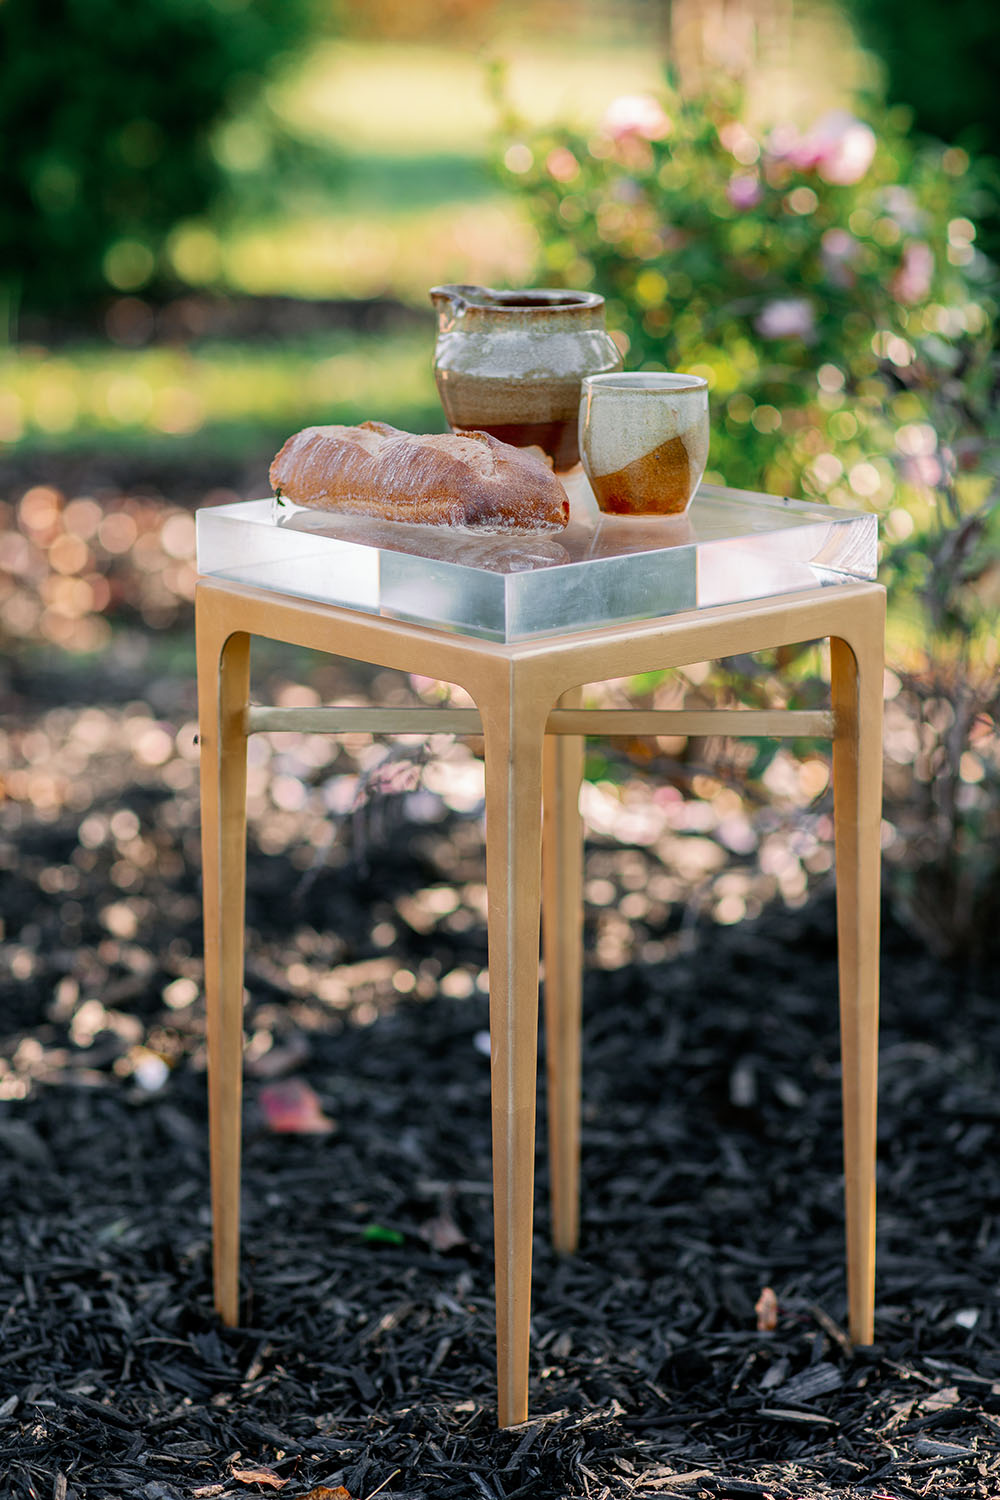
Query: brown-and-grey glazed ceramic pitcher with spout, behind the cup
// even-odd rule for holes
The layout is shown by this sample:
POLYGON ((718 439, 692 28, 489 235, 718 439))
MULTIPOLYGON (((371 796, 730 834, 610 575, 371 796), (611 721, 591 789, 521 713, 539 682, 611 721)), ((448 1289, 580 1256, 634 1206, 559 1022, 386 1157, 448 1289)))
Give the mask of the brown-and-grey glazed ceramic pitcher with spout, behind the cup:
POLYGON ((435 380, 451 428, 478 428, 514 447, 535 444, 556 470, 579 460, 585 375, 618 370, 604 298, 589 291, 432 286, 435 380))

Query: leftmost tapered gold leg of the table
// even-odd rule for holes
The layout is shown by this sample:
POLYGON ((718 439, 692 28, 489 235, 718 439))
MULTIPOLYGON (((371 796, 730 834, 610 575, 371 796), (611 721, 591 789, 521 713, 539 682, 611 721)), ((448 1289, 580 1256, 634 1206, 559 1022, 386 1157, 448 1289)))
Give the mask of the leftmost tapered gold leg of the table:
POLYGON ((223 1323, 240 1320, 240 1138, 246 732, 250 638, 198 615, 201 842, 205 922, 213 1275, 223 1323))

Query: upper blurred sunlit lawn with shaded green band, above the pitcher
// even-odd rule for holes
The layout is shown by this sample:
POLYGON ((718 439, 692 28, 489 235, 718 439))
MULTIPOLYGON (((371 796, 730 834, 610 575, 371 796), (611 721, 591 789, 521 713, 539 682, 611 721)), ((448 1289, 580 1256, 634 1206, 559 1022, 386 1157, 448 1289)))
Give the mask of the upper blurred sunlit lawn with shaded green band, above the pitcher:
MULTIPOLYGON (((513 54, 505 93, 534 124, 597 123, 616 94, 654 88, 660 76, 652 51, 547 45, 513 54)), ((531 278, 534 232, 487 168, 499 118, 483 56, 331 42, 274 84, 267 104, 270 126, 258 111, 216 140, 229 212, 181 225, 171 240, 171 268, 189 285, 420 303, 442 280, 531 278), (280 174, 261 176, 276 129, 303 142, 301 170, 283 189, 280 174)))

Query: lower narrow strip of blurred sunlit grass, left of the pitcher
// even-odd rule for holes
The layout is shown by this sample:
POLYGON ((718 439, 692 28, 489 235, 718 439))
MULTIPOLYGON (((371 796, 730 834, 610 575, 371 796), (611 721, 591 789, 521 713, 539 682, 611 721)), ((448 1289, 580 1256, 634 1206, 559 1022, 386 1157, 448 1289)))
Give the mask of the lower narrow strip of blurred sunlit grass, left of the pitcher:
POLYGON ((81 346, 0 357, 0 441, 192 438, 240 426, 288 434, 378 417, 444 426, 433 333, 337 333, 307 345, 81 346))

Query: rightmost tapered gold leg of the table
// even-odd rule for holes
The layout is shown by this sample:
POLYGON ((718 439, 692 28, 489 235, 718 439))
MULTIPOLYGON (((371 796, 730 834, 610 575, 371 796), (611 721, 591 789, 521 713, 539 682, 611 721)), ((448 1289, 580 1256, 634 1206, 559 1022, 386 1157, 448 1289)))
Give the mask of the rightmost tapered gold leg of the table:
POLYGON ((873 592, 850 642, 831 639, 847 1308, 856 1344, 874 1340, 883 616, 873 592))

